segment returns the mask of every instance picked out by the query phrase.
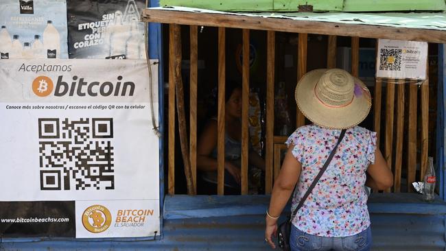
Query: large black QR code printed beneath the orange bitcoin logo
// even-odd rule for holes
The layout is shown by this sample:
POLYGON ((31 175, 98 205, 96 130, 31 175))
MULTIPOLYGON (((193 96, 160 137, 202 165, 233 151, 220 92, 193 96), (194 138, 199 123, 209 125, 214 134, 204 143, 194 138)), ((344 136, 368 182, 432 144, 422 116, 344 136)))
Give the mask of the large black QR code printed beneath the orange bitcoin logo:
POLYGON ((40 190, 115 189, 113 119, 38 119, 40 190))

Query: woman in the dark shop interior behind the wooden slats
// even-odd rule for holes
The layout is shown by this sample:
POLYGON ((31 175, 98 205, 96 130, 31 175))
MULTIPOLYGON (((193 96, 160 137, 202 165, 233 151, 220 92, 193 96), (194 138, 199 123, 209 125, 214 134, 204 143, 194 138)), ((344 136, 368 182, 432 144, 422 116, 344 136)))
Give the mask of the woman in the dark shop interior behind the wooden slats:
MULTIPOLYGON (((214 92, 216 93, 216 92, 214 92)), ((197 190, 200 194, 217 193, 217 97, 214 97, 211 114, 204 125, 197 145, 197 168, 200 171, 197 190)), ((241 191, 241 156, 242 156, 242 88, 236 82, 227 82, 225 87, 224 116, 224 194, 237 195, 241 191)), ((265 162, 249 147, 248 163, 250 166, 265 169, 265 162)))

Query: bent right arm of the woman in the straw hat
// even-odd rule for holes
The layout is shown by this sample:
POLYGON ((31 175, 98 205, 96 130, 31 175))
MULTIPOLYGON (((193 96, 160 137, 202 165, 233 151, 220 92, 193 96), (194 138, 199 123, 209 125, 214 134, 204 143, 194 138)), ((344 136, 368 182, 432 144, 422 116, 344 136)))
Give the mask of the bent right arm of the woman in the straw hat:
POLYGON ((392 171, 387 167, 386 160, 384 160, 377 147, 375 150, 375 164, 371 164, 367 168, 366 186, 375 190, 384 190, 392 187, 392 185, 392 171))

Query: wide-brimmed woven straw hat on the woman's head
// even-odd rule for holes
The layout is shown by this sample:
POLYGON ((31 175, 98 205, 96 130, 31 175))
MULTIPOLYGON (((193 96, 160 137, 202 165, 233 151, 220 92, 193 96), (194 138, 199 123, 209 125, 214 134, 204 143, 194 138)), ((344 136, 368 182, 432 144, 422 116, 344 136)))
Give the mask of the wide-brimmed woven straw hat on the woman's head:
POLYGON ((310 71, 297 83, 295 97, 307 119, 329 129, 361 123, 372 104, 366 85, 342 69, 310 71))

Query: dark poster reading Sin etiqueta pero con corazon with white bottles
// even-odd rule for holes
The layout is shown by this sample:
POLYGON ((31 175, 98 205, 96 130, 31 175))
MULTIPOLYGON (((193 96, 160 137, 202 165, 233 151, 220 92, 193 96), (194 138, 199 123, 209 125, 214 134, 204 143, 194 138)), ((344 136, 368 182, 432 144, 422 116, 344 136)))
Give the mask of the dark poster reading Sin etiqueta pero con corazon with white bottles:
POLYGON ((67 3, 69 58, 143 59, 145 0, 67 3))

